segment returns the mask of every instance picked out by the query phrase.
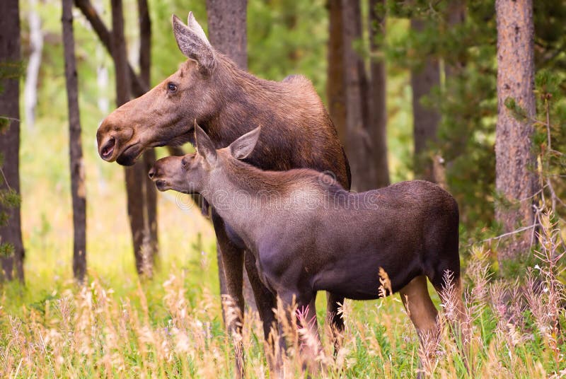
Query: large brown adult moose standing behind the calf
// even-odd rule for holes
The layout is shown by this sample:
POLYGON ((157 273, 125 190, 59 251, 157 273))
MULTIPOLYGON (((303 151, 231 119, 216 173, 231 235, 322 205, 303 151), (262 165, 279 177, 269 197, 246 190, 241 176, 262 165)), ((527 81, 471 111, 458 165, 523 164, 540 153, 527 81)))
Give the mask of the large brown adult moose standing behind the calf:
MULTIPOLYGON (((308 79, 289 76, 282 82, 265 81, 238 69, 210 45, 192 13, 189 13, 187 25, 173 16, 173 32, 187 61, 151 91, 122 105, 103 120, 97 133, 101 158, 132 165, 146 148, 194 142, 195 120, 216 148, 228 146, 254 125, 261 125, 263 132, 258 146, 246 162, 263 170, 328 171, 340 185, 350 188, 350 169, 344 150, 308 79)), ((272 313, 275 297, 260 281, 253 257, 246 255, 244 260, 243 240, 214 209, 212 222, 228 294, 243 310, 245 261, 267 339, 275 322, 272 313)), ((343 328, 337 315, 338 303, 343 301, 339 294, 328 294, 328 315, 337 331, 343 328)), ((227 327, 239 332, 238 325, 241 320, 236 319, 227 327)), ((241 374, 241 352, 237 347, 236 350, 241 374)))

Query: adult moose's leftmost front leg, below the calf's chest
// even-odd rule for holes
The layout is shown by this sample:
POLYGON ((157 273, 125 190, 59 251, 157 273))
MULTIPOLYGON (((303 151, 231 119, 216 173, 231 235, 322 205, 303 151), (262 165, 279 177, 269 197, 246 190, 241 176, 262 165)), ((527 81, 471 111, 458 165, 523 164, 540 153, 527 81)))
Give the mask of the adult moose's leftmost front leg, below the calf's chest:
MULTIPOLYGON (((238 248, 226 235, 224 221, 215 211, 212 211, 212 224, 216 233, 217 245, 221 257, 221 266, 224 267, 226 279, 226 294, 222 294, 222 311, 226 329, 234 341, 234 354, 236 356, 236 377, 243 378, 243 344, 241 328, 243 324, 243 257, 244 252, 238 248), (226 296, 228 299, 226 299, 226 296)), ((220 266, 220 264, 219 264, 220 266)), ((221 273, 220 273, 221 275, 221 273)))

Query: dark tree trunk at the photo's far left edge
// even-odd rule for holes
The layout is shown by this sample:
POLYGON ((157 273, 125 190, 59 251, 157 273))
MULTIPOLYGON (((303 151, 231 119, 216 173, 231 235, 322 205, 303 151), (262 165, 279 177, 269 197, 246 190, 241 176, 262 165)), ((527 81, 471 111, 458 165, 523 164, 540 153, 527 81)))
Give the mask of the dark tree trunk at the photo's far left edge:
MULTIPOLYGON (((18 0, 0 1, 0 64, 21 64, 20 14, 18 0)), ((4 80, 4 91, 0 93, 0 115, 10 117, 4 134, 0 134, 0 153, 4 157, 4 177, 1 189, 11 188, 20 193, 20 85, 18 78, 4 80), (9 186, 9 187, 8 187, 9 186)), ((0 243, 11 243, 13 255, 0 257, 2 272, 0 279, 12 280, 14 272, 23 282, 24 250, 21 232, 20 206, 1 208, 6 211, 8 223, 0 227, 0 243)))

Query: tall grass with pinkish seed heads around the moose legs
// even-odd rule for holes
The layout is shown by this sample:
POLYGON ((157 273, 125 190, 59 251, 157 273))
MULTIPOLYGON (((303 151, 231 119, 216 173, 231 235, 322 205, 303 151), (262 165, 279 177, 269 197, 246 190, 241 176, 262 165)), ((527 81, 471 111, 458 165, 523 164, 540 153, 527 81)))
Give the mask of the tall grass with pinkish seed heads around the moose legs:
MULTIPOLYGON (((347 301, 341 310, 346 324, 342 348, 333 356, 330 336, 323 333, 316 375, 565 376, 565 288, 558 279, 565 252, 560 231, 550 218, 543 216, 542 223, 537 262, 524 280, 492 279, 488 252, 473 247, 465 272, 466 325, 455 323, 454 303, 447 296, 439 304, 443 310, 439 343, 425 339, 419 344, 396 296, 365 303, 347 301), (468 328, 466 341, 454 337, 454 327, 468 328)), ((209 262, 201 264, 205 271, 214 271, 209 262)), ((8 298, 13 288, 4 287, 0 376, 233 376, 235 339, 224 331, 216 291, 206 283, 195 291, 187 269, 172 265, 169 271, 165 278, 136 280, 129 292, 120 295, 91 272, 88 285, 77 288, 69 281, 52 296, 32 304, 14 303, 8 298)), ((284 314, 280 308, 278 313, 284 314)), ((318 315, 323 319, 322 307, 318 315)), ((239 338, 246 355, 246 376, 268 377, 260 321, 250 311, 245 319, 239 338)), ((304 376, 301 346, 304 349, 312 337, 301 332, 296 322, 284 323, 283 330, 288 346, 284 376, 304 376)))

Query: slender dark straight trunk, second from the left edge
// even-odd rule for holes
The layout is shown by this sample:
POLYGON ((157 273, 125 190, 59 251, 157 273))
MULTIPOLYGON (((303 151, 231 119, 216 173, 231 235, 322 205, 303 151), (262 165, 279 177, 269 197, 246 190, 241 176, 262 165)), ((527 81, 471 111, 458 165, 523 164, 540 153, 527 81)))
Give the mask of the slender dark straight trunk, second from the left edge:
POLYGON ((69 110, 69 165, 71 169, 74 231, 73 274, 75 279, 82 284, 86 272, 86 187, 73 33, 73 0, 63 0, 62 23, 67 106, 69 110))

